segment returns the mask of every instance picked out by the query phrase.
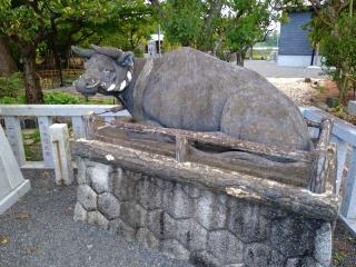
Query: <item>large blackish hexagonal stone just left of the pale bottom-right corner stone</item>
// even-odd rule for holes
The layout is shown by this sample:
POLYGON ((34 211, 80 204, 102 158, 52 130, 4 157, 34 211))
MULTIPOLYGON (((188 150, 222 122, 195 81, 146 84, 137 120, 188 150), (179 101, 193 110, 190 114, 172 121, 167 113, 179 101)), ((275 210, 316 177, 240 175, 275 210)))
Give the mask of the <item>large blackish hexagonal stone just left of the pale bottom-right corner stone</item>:
POLYGON ((299 219, 288 217, 271 226, 270 243, 286 257, 303 256, 314 249, 314 233, 299 219))

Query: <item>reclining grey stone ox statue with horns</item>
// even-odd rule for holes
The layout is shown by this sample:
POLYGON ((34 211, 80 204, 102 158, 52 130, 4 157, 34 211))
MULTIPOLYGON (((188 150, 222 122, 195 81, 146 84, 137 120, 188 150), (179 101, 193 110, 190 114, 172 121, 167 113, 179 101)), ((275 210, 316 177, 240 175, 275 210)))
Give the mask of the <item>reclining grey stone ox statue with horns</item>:
POLYGON ((112 47, 72 50, 87 59, 77 90, 117 97, 136 121, 310 149, 298 108, 254 71, 192 48, 156 59, 135 58, 112 47))

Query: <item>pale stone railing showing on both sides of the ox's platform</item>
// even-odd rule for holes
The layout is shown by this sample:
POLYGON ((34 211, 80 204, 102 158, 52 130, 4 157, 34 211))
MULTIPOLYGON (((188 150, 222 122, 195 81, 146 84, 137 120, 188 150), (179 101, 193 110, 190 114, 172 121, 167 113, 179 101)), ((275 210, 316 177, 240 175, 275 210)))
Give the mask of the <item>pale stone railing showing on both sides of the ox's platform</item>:
MULTIPOLYGON (((106 121, 115 117, 130 116, 126 110, 105 112, 115 106, 109 105, 0 105, 0 118, 4 120, 4 129, 14 156, 21 168, 53 168, 53 155, 49 138, 49 127, 53 117, 69 118, 72 125, 73 138, 86 138, 86 120, 90 111, 102 113, 106 121), (40 131, 42 161, 27 161, 21 134, 21 119, 36 117, 40 131)), ((304 118, 320 122, 329 113, 314 107, 303 107, 304 118)), ((340 218, 356 233, 356 127, 338 118, 334 118, 332 141, 337 145, 337 180, 336 190, 343 196, 339 210, 340 218)), ((317 128, 309 128, 310 135, 318 136, 317 128)))

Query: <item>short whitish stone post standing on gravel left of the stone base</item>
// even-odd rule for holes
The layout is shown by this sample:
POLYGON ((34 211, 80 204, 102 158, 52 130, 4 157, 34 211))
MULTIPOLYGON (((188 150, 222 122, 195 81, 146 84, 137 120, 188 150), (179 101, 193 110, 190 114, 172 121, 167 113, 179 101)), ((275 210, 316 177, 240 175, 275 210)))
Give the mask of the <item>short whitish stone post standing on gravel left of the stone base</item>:
POLYGON ((73 171, 68 127, 66 123, 55 123, 49 127, 49 132, 53 151, 56 184, 71 185, 73 181, 73 171))

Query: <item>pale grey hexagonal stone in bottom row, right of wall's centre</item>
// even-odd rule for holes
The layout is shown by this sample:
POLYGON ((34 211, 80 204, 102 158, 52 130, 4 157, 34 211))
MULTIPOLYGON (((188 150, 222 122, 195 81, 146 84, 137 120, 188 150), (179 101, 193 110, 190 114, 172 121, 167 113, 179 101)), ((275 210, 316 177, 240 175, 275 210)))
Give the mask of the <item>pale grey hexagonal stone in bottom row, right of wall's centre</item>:
POLYGON ((227 230, 208 234, 208 251, 225 265, 244 263, 244 244, 227 230))

